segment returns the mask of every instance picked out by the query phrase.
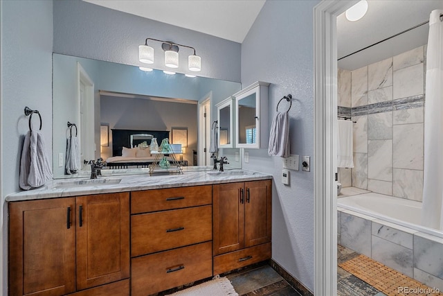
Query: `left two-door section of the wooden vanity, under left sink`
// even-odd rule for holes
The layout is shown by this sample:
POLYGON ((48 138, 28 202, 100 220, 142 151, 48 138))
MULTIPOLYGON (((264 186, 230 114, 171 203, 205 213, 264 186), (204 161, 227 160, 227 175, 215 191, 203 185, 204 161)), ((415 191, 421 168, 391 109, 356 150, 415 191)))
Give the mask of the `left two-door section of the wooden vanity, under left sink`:
POLYGON ((10 202, 9 214, 9 295, 129 295, 129 193, 10 202))

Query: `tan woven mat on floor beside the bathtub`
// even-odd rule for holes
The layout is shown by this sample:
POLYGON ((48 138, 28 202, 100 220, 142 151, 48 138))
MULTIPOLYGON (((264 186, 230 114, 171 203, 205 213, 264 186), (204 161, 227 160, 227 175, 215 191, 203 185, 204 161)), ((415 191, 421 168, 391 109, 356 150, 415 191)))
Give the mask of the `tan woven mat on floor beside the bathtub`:
POLYGON ((338 264, 352 275, 362 279, 377 290, 391 295, 443 295, 386 265, 370 259, 363 254, 338 264))

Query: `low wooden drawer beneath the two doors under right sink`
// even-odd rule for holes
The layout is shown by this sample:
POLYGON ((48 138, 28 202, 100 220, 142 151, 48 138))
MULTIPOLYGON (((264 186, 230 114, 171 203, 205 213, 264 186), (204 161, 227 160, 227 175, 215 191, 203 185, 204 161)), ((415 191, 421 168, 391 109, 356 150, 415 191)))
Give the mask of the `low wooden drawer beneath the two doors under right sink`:
POLYGON ((214 275, 271 259, 271 243, 248 247, 214 257, 214 275))

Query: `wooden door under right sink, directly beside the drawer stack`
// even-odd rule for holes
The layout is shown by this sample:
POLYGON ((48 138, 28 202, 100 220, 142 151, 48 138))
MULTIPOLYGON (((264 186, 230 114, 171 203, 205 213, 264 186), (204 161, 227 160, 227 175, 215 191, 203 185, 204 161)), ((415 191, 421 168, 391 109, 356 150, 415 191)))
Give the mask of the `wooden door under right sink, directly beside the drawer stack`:
POLYGON ((214 256, 244 247, 244 184, 213 187, 214 256))

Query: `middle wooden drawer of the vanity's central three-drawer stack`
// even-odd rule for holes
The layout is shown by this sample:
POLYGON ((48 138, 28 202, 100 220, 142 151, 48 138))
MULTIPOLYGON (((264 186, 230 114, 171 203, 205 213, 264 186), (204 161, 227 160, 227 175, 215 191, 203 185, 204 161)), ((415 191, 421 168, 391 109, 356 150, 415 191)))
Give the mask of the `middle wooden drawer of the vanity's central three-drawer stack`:
POLYGON ((131 217, 131 256, 213 239, 213 207, 191 207, 131 217))

